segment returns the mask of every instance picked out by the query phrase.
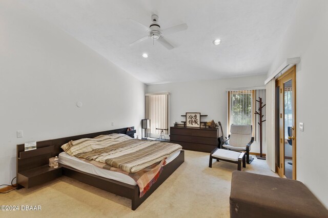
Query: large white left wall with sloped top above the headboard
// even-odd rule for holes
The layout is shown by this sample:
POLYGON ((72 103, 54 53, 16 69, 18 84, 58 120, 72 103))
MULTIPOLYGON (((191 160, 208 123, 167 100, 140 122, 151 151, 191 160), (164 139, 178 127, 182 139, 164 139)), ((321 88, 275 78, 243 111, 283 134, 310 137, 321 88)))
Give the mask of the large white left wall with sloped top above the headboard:
POLYGON ((0 2, 0 184, 15 177, 16 144, 127 126, 141 135, 144 96, 124 70, 19 2, 0 2))

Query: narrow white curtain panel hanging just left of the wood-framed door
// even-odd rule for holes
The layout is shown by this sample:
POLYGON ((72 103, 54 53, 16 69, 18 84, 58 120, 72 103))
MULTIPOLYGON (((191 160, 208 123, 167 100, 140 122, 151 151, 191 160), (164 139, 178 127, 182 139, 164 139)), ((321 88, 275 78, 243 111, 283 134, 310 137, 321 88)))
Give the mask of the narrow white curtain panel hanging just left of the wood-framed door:
POLYGON ((276 172, 275 167, 275 79, 271 80, 265 86, 266 103, 266 121, 265 121, 265 141, 267 144, 266 158, 267 164, 273 172, 276 172))

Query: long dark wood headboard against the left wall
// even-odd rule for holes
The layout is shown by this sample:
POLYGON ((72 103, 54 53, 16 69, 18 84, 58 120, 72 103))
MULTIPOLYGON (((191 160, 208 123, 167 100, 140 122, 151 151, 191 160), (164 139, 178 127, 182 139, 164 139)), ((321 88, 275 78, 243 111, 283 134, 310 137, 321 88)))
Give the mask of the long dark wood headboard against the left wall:
POLYGON ((108 130, 103 132, 69 136, 65 138, 37 141, 36 149, 31 151, 24 151, 24 144, 17 144, 16 146, 17 180, 18 180, 18 173, 27 171, 28 169, 32 169, 35 167, 47 165, 49 163, 49 158, 58 156, 60 152, 63 152, 63 150, 60 147, 63 144, 69 142, 70 140, 77 140, 80 138, 94 138, 98 135, 107 135, 111 133, 122 133, 133 137, 136 131, 134 130, 134 127, 130 127, 130 128, 133 130, 127 131, 128 127, 126 127, 116 130, 108 130))

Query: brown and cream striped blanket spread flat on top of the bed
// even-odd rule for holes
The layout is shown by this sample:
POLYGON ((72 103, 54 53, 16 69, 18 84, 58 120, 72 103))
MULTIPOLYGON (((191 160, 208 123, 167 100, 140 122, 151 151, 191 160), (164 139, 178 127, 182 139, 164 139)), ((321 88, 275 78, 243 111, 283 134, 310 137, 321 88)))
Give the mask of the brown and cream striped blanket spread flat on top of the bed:
POLYGON ((70 141, 61 148, 71 156, 106 163, 127 173, 136 173, 182 149, 179 144, 135 140, 119 133, 70 141))

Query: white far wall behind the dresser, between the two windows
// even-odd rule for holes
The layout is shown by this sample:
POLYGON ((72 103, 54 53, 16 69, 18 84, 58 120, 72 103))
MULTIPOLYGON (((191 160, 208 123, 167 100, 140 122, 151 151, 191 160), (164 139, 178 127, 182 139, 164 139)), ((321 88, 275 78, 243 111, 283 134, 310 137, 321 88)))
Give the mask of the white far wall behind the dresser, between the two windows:
MULTIPOLYGON (((237 77, 211 81, 193 81, 147 85, 147 93, 170 92, 170 126, 184 120, 186 112, 200 112, 208 116, 202 120, 222 124, 227 135, 227 88, 264 86, 265 75, 237 77)), ((221 134, 221 133, 220 133, 221 134)), ((259 153, 259 144, 254 142, 251 152, 259 153)), ((265 152, 265 150, 264 150, 265 152)))

